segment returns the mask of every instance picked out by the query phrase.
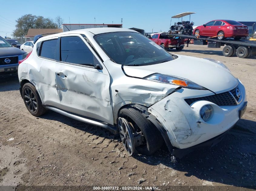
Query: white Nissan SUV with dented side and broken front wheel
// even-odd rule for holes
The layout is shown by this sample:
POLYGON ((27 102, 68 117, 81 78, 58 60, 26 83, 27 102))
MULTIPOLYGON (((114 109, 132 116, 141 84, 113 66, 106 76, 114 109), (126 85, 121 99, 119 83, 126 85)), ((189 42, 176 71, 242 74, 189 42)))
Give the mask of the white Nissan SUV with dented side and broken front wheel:
POLYGON ((152 154, 163 142, 179 158, 210 147, 247 105, 223 63, 173 55, 122 28, 37 36, 18 76, 32 115, 53 110, 119 132, 130 155, 152 154))

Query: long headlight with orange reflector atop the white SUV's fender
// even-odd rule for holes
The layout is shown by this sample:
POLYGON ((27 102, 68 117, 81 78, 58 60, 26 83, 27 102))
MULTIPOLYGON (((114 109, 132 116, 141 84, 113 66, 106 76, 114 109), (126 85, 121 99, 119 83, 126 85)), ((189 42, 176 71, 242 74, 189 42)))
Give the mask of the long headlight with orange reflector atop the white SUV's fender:
POLYGON ((152 74, 152 75, 146 76, 144 79, 151 80, 151 81, 158 81, 165 84, 174 84, 174 85, 179 85, 179 86, 188 87, 188 88, 206 90, 206 88, 204 88, 201 85, 198 85, 188 79, 177 77, 177 76, 171 76, 171 75, 165 75, 165 74, 152 74))

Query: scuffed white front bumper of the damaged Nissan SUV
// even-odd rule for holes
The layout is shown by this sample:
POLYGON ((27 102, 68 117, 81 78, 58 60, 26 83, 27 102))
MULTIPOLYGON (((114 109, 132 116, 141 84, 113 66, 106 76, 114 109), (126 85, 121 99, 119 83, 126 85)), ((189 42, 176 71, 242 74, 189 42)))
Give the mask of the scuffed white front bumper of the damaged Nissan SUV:
POLYGON ((244 86, 240 82, 238 86, 242 96, 238 105, 218 106, 205 100, 188 105, 185 102, 187 98, 210 96, 214 93, 208 90, 181 88, 149 107, 148 112, 155 116, 164 129, 161 133, 165 133, 165 142, 167 136, 171 142, 173 148, 168 147, 169 151, 180 158, 194 149, 209 147, 219 142, 220 135, 235 125, 241 117, 241 110, 246 108, 244 86), (200 117, 200 109, 205 104, 212 104, 214 107, 212 119, 208 122, 204 122, 200 117))

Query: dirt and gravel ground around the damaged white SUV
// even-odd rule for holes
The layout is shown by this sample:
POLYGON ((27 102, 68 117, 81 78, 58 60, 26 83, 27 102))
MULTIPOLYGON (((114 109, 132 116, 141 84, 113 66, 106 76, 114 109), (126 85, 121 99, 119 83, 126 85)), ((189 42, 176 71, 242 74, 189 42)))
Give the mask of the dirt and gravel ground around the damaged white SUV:
POLYGON ((18 78, 4 78, 0 81, 0 185, 255 188, 256 57, 224 57, 222 49, 197 45, 171 52, 223 61, 245 85, 247 111, 218 145, 194 151, 177 164, 171 163, 165 148, 152 156, 129 157, 118 136, 105 129, 52 111, 32 116, 20 96, 18 78))

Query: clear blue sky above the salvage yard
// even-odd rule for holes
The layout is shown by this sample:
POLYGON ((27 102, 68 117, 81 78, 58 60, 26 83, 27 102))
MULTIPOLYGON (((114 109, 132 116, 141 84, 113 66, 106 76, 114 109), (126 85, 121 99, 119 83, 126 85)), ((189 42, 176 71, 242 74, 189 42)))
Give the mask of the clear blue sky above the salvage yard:
MULTIPOLYGON (((64 23, 121 24, 123 28, 141 28, 145 32, 168 31, 171 16, 182 12, 196 12, 191 21, 198 26, 214 19, 254 21, 255 0, 207 1, 207 0, 11 0, 0 1, 0 36, 11 37, 15 20, 24 14, 41 15, 55 19, 60 15, 64 23), (242 6, 243 5, 243 6, 242 6), (251 5, 251 6, 250 6, 251 5), (5 8, 6 7, 6 8, 5 8)), ((189 16, 185 18, 189 20, 189 16)), ((172 20, 173 22, 174 20, 172 20)))

